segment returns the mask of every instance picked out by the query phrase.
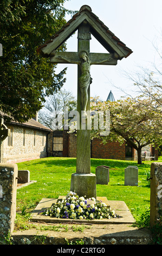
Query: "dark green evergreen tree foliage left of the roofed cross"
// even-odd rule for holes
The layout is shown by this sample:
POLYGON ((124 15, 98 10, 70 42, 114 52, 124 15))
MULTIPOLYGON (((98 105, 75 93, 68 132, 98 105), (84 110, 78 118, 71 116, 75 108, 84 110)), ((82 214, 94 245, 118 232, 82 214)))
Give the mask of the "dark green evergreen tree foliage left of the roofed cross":
MULTIPOLYGON (((0 110, 15 120, 27 121, 42 107, 45 97, 65 82, 66 69, 38 56, 37 47, 66 23, 65 0, 2 0, 0 3, 0 110)), ((66 49, 65 45, 60 51, 66 49)))

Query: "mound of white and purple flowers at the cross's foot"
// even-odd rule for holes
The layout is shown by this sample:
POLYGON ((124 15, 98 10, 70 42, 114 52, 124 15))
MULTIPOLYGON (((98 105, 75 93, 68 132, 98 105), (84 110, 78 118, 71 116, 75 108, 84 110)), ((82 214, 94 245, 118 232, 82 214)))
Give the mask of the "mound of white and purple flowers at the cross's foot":
POLYGON ((46 216, 56 218, 72 218, 74 220, 94 220, 102 218, 119 218, 110 206, 95 200, 95 198, 79 197, 76 193, 70 191, 66 197, 42 212, 46 216), (92 204, 88 204, 89 200, 93 200, 92 204))

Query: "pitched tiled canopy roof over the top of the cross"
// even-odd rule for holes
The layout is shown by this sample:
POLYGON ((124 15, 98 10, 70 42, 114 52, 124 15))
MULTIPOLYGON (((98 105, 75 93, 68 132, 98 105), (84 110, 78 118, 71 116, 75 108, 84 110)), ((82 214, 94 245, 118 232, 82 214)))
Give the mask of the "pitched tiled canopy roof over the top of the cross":
POLYGON ((132 53, 132 50, 124 42, 120 41, 98 16, 92 13, 92 9, 88 5, 83 5, 80 11, 66 25, 37 48, 37 52, 41 53, 44 57, 49 57, 51 51, 57 50, 77 30, 84 20, 87 20, 90 25, 90 33, 94 35, 109 53, 116 52, 119 55, 119 59, 127 58, 132 53))

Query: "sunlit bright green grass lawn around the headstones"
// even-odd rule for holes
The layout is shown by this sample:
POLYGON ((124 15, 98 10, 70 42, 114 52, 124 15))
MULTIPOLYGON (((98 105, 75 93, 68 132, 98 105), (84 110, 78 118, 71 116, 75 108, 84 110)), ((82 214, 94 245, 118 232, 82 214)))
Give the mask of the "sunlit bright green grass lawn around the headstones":
MULTIPOLYGON (((162 162, 162 158, 159 162, 162 162)), ((30 218, 31 212, 42 198, 66 196, 70 190, 70 179, 76 170, 76 159, 66 157, 48 157, 17 163, 19 170, 29 170, 30 180, 36 183, 17 190, 17 220, 21 216, 30 218)), ((124 201, 135 220, 150 208, 150 185, 146 173, 150 172, 151 161, 137 164, 135 161, 92 159, 91 172, 100 165, 109 166, 109 184, 96 185, 97 196, 108 200, 124 201), (124 174, 128 165, 139 168, 138 186, 125 186, 124 174)))

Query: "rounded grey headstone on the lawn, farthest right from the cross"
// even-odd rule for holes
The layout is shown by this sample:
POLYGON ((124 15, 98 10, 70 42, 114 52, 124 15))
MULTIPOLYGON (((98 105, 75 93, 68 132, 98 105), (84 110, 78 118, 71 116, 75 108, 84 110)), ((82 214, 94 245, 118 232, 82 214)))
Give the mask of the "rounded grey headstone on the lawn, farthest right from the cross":
POLYGON ((125 168, 125 186, 138 186, 138 167, 128 166, 125 168))

